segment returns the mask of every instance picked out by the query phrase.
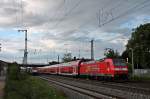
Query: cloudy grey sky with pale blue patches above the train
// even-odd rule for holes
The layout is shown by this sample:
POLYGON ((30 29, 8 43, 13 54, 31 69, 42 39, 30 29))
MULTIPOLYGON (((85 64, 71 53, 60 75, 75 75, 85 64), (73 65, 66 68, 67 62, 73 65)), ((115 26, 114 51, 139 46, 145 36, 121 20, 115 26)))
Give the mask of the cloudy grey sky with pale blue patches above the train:
POLYGON ((0 0, 0 60, 22 63, 28 30, 28 63, 56 61, 65 53, 104 57, 104 49, 120 54, 132 30, 150 22, 149 0, 0 0))

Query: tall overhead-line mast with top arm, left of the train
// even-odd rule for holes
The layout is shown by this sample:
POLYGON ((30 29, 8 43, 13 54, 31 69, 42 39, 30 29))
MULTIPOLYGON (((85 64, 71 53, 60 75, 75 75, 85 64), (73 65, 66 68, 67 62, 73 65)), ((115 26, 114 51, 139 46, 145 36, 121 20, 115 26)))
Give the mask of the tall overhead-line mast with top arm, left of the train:
POLYGON ((23 57, 23 65, 27 65, 27 57, 28 57, 28 50, 27 50, 27 30, 18 30, 18 32, 25 32, 25 49, 24 49, 24 57, 23 57))

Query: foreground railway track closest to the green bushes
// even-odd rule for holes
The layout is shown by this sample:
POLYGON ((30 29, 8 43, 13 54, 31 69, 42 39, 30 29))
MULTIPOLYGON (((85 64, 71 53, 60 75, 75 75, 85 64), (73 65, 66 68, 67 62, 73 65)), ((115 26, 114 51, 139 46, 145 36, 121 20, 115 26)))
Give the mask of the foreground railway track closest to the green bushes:
POLYGON ((93 99, 120 99, 119 97, 117 96, 112 96, 112 95, 107 95, 107 94, 104 94, 104 93, 100 93, 100 92, 97 92, 97 91, 94 91, 94 90, 90 90, 90 89, 87 89, 87 88, 81 88, 81 87, 78 87, 78 86, 74 86, 72 84, 68 84, 68 83, 63 83, 63 82, 60 82, 60 81, 55 81, 54 79, 50 79, 48 77, 39 77, 43 80, 46 80, 50 83, 54 83, 58 86, 62 86, 62 87, 65 87, 65 88, 68 88, 68 89, 71 89, 73 91, 76 91, 80 94, 84 94, 84 95, 87 95, 93 99))

